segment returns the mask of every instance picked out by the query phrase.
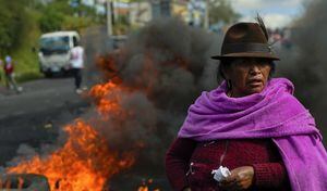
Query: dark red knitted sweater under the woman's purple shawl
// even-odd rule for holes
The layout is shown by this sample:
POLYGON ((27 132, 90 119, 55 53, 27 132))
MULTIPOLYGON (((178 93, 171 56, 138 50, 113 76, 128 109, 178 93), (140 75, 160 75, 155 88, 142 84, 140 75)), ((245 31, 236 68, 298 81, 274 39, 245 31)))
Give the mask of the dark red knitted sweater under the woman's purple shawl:
POLYGON ((195 142, 177 139, 166 155, 168 179, 175 191, 220 191, 211 170, 222 166, 230 170, 254 167, 253 191, 289 191, 290 184, 280 154, 270 139, 219 140, 195 142))

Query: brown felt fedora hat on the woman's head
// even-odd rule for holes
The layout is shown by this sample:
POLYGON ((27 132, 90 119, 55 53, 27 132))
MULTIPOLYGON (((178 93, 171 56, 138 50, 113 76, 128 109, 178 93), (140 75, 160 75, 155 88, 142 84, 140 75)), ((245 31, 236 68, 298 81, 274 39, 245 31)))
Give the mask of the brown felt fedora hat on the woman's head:
POLYGON ((221 54, 214 55, 211 59, 222 60, 227 58, 279 60, 268 44, 266 28, 257 23, 238 23, 227 30, 221 46, 221 54))

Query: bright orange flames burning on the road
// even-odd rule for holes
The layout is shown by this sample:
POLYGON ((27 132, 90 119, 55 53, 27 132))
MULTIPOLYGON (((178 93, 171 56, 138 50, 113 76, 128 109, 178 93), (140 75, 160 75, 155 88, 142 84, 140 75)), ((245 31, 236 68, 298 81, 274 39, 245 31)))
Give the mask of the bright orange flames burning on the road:
MULTIPOLYGON (((98 65, 109 80, 95 85, 88 94, 94 98, 96 111, 106 122, 109 117, 124 120, 132 111, 122 109, 124 97, 135 90, 146 91, 156 84, 157 68, 152 64, 152 58, 145 56, 144 69, 137 76, 137 81, 146 80, 146 86, 123 86, 119 76, 119 67, 113 56, 98 58, 98 65)), ((140 82, 142 85, 142 82, 140 82)), ((93 122, 92 119, 89 122, 93 122)), ((144 148, 141 140, 135 142, 131 151, 122 153, 110 148, 105 137, 89 123, 76 119, 74 124, 63 127, 68 140, 62 148, 47 156, 35 155, 32 160, 7 168, 9 174, 39 174, 48 178, 51 191, 102 191, 108 180, 121 170, 131 167, 135 162, 135 148, 144 148)))

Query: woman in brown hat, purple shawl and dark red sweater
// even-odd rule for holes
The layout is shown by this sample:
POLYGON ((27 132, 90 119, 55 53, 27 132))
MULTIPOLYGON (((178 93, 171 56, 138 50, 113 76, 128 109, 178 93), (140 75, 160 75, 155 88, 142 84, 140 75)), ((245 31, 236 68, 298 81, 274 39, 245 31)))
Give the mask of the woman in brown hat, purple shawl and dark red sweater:
POLYGON ((322 135, 292 82, 271 77, 279 58, 262 18, 231 26, 213 59, 225 80, 190 106, 166 154, 172 189, 326 191, 322 135))

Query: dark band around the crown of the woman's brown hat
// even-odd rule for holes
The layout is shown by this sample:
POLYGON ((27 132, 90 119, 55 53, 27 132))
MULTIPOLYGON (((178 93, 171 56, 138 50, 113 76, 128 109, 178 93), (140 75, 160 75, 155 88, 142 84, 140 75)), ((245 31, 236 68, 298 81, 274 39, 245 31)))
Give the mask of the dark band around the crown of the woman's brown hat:
POLYGON ((221 49, 221 54, 241 52, 271 53, 271 49, 267 43, 227 43, 221 49))

